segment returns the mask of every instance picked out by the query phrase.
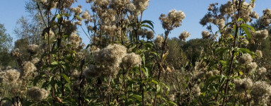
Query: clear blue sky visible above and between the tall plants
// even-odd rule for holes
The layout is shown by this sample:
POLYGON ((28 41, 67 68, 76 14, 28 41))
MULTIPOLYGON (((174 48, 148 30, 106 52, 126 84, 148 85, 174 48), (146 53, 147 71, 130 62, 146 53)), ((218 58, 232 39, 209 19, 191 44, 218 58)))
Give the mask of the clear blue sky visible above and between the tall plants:
MULTIPOLYGON (((13 30, 16 27, 16 21, 21 16, 27 16, 25 13, 25 1, 28 0, 1 0, 0 4, 0 23, 4 23, 7 33, 13 37, 13 42, 16 40, 16 36, 13 34, 13 30)), ((85 4, 85 0, 78 0, 79 2, 74 4, 77 6, 81 4, 83 6, 83 11, 86 8, 91 8, 90 5, 85 4)), ((169 35, 170 37, 178 37, 183 30, 191 33, 188 40, 193 38, 200 38, 202 30, 202 25, 199 24, 200 18, 207 13, 207 8, 209 4, 214 2, 225 4, 227 0, 150 0, 149 6, 146 11, 144 11, 144 20, 154 21, 154 30, 156 34, 161 34, 164 32, 160 21, 158 20, 161 13, 167 14, 171 9, 176 9, 183 11, 185 13, 185 19, 183 20, 183 25, 180 28, 176 28, 169 35)), ((248 0, 247 0, 248 1, 248 0)), ((271 0, 256 0, 256 6, 254 10, 259 13, 260 16, 263 15, 263 10, 265 8, 271 8, 271 0)), ((80 30, 79 30, 80 31, 80 30)), ((86 36, 81 33, 83 42, 88 42, 86 36)))

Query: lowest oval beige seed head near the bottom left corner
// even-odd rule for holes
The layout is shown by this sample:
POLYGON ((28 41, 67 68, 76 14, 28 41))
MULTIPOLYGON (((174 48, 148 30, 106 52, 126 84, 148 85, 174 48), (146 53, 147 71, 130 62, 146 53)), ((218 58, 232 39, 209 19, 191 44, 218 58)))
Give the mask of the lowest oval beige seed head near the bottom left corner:
POLYGON ((28 89, 27 95, 29 98, 31 98, 33 100, 40 101, 40 100, 44 100, 48 97, 49 91, 47 91, 43 88, 33 87, 33 88, 28 89))

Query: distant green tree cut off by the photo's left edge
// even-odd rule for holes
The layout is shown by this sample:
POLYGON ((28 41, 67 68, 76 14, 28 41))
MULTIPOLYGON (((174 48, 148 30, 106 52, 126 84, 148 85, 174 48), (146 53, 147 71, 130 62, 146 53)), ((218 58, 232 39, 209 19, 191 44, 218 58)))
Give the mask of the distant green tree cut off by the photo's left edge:
POLYGON ((12 37, 6 33, 6 28, 4 24, 0 23, 0 66, 8 66, 11 61, 11 56, 9 55, 12 37))

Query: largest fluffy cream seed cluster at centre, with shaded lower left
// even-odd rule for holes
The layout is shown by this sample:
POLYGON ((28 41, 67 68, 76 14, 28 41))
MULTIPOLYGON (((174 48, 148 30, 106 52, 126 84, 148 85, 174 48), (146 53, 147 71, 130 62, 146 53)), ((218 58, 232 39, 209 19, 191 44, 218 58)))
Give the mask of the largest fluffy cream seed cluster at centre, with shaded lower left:
POLYGON ((122 58, 127 54, 127 48, 114 44, 94 50, 92 53, 95 65, 90 64, 84 71, 84 76, 86 78, 91 78, 93 75, 110 77, 117 75, 122 58))

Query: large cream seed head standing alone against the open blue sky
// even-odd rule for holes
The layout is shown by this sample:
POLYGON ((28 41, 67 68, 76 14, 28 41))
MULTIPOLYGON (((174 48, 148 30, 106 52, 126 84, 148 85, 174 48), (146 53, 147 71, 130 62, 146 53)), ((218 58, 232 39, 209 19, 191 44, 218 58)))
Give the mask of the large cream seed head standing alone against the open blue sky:
POLYGON ((161 20, 163 29, 171 31, 175 28, 178 28, 184 18, 185 13, 183 13, 183 11, 171 10, 169 11, 168 16, 162 13, 159 17, 159 20, 161 20))

